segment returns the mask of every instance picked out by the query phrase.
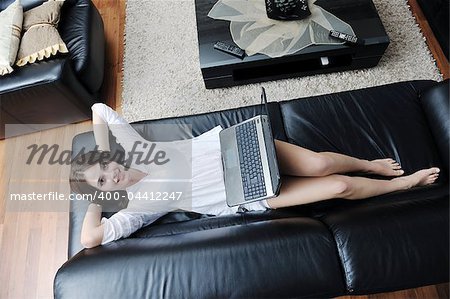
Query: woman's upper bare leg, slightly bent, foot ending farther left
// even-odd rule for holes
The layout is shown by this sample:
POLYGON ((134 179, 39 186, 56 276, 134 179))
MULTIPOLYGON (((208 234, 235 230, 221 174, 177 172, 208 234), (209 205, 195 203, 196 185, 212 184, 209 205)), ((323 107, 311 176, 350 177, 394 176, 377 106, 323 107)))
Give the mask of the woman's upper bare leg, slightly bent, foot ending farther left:
POLYGON ((327 176, 335 173, 368 172, 386 176, 403 174, 393 159, 362 160, 342 154, 316 153, 306 148, 275 140, 281 173, 291 176, 327 176))

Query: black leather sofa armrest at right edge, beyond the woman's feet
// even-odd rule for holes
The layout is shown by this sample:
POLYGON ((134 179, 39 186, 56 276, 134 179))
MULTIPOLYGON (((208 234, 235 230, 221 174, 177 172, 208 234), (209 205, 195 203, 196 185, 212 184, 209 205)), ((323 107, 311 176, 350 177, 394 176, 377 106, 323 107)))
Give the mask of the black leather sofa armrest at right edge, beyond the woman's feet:
POLYGON ((419 97, 447 173, 450 142, 449 82, 445 80, 437 83, 423 91, 419 97))

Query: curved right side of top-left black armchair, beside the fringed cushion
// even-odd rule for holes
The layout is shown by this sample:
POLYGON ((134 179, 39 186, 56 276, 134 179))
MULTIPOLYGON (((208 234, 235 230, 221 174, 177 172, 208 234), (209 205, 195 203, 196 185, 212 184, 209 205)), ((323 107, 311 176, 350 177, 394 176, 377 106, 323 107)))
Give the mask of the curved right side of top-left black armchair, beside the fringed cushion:
POLYGON ((66 1, 58 31, 66 43, 77 77, 95 94, 103 82, 105 36, 103 21, 90 0, 66 1))

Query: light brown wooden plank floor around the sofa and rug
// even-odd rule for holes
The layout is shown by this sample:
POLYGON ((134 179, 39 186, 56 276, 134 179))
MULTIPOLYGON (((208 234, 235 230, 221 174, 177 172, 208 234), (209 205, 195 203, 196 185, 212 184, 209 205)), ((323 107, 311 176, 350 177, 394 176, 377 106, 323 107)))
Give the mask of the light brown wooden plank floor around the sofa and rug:
MULTIPOLYGON (((94 0, 94 3, 105 23, 107 43, 103 100, 120 110, 125 2, 94 0)), ((417 12, 417 7, 413 4, 411 6, 416 9, 415 14, 419 16, 419 21, 423 22, 423 15, 417 12)), ((432 43, 430 49, 439 48, 436 42, 428 40, 432 43)), ((444 69, 444 76, 448 78, 448 62, 445 64, 440 61, 438 64, 444 69)), ((7 194, 23 192, 24 186, 35 187, 33 178, 36 177, 46 182, 39 184, 40 192, 58 191, 69 194, 69 167, 53 168, 41 165, 35 169, 27 168, 23 163, 27 154, 26 147, 38 142, 57 143, 70 149, 73 136, 88 130, 90 123, 83 122, 0 141, 0 299, 52 298, 53 278, 57 269, 67 259, 67 204, 59 205, 59 212, 13 212, 6 207, 7 194)), ((442 284, 357 298, 449 298, 448 287, 448 284, 442 284)))

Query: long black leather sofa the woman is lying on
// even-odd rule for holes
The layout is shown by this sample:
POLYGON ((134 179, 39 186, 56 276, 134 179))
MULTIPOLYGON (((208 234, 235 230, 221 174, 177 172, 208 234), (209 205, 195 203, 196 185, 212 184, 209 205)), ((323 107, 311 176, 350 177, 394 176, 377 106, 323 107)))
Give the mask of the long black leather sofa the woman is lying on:
MULTIPOLYGON (((393 157, 406 174, 438 166, 431 186, 222 217, 171 213, 127 239, 83 250, 87 204, 73 201, 69 260, 56 274, 55 298, 332 297, 449 281, 448 90, 448 81, 411 81, 270 103, 276 138, 315 151, 393 157)), ((259 111, 133 126, 163 141, 152 125, 192 124, 199 135, 259 111)), ((73 140, 74 154, 93 146, 91 132, 73 140)))

